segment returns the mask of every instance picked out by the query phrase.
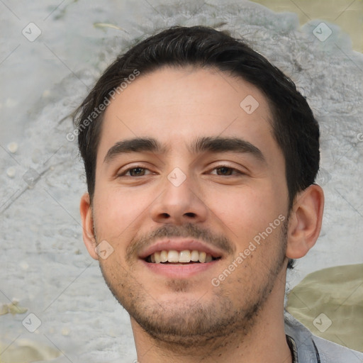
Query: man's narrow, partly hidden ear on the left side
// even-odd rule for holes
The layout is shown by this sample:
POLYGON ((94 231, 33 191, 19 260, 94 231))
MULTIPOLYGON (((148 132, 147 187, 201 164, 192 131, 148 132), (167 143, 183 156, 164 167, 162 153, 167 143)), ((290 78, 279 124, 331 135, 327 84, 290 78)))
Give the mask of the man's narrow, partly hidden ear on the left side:
POLYGON ((94 238, 94 220, 92 216, 91 203, 89 201, 89 194, 83 194, 81 203, 79 203, 79 211, 82 218, 83 227, 83 242, 86 245, 86 249, 94 259, 99 259, 99 255, 96 253, 96 238, 94 238))

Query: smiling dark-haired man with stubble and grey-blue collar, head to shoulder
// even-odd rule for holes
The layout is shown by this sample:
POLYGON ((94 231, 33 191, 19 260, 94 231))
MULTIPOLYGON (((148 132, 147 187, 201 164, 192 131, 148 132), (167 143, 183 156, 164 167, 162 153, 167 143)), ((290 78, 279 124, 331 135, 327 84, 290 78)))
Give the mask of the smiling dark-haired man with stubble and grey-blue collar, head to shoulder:
POLYGON ((118 57, 75 123, 84 242, 139 362, 361 361, 284 317, 324 198, 318 123, 279 69, 225 33, 170 28, 118 57))

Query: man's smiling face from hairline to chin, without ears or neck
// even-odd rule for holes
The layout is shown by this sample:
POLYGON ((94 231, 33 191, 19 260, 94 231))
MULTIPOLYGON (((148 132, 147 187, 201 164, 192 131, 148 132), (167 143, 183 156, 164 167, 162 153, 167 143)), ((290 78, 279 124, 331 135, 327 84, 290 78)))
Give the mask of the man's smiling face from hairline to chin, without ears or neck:
POLYGON ((271 119, 255 86, 195 68, 140 74, 106 109, 92 208, 113 253, 99 262, 151 335, 247 331, 284 296, 288 191, 271 119), (153 262, 165 250, 176 262, 153 262))

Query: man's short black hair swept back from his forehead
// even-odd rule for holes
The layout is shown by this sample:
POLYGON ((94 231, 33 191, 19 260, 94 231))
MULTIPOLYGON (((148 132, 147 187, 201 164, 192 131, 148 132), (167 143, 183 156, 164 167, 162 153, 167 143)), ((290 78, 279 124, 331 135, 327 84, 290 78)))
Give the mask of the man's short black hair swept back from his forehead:
MULTIPOLYGON (((120 89, 121 84, 135 71, 143 75, 163 66, 189 65, 228 72, 250 82, 266 96, 272 110, 274 138, 285 159, 291 210, 296 194, 313 184, 318 174, 318 122, 305 97, 280 69, 252 50, 244 40, 205 26, 174 26, 138 42, 116 58, 77 108, 74 125, 77 128, 79 151, 84 160, 91 201, 95 188, 96 153, 104 115, 104 111, 99 111, 99 106, 105 104, 105 100, 109 104, 114 91, 120 89), (91 114, 95 117, 90 120, 91 114), (89 122, 86 123, 87 120, 89 122)), ((291 261, 289 260, 289 267, 292 267, 291 261)))

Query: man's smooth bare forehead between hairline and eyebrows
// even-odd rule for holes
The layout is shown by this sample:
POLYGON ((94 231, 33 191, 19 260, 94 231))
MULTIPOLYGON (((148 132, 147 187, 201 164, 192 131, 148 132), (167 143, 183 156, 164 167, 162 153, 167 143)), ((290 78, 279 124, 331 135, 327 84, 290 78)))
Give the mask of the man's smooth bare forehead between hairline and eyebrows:
POLYGON ((181 150, 196 137, 236 137, 277 148, 266 97, 216 69, 162 67, 140 74, 106 108, 97 162, 120 140, 152 137, 181 150))

